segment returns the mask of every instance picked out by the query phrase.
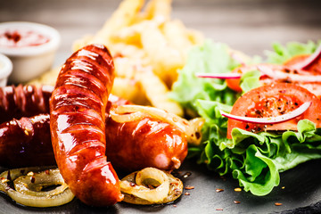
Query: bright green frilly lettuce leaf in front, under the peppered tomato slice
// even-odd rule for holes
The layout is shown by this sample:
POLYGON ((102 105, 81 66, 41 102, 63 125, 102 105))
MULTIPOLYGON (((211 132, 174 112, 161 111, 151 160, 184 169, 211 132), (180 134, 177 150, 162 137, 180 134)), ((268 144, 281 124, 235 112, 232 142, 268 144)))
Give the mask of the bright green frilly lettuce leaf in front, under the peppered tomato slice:
POLYGON ((221 176, 232 173, 245 191, 266 195, 279 185, 280 172, 321 158, 321 130, 307 119, 299 121, 298 131, 281 134, 255 134, 234 128, 230 140, 225 137, 227 119, 218 111, 230 107, 201 100, 196 106, 206 120, 199 162, 205 162, 221 176))

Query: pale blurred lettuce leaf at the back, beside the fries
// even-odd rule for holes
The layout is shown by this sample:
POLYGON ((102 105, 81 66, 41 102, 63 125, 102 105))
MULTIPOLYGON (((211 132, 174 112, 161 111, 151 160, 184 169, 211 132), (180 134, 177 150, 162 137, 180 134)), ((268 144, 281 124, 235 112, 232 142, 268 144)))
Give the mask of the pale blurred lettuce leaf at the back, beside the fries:
POLYGON ((169 93, 169 97, 181 103, 185 109, 196 111, 198 99, 233 104, 238 95, 226 86, 226 81, 218 78, 196 78, 197 72, 227 73, 239 66, 228 53, 228 46, 207 40, 189 52, 187 62, 169 93))

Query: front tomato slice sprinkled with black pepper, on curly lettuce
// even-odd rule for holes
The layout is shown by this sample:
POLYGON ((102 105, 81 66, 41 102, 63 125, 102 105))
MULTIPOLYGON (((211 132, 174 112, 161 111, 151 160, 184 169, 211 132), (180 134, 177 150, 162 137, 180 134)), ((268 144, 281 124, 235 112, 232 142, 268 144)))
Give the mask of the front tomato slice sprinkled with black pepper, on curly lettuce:
POLYGON ((233 128, 242 128, 254 133, 267 130, 296 130, 300 119, 309 119, 321 127, 321 100, 304 87, 291 83, 276 83, 259 86, 242 95, 233 105, 233 115, 254 118, 269 118, 283 115, 300 107, 302 103, 312 102, 307 111, 295 119, 276 124, 254 124, 228 119, 227 138, 231 139, 233 128))

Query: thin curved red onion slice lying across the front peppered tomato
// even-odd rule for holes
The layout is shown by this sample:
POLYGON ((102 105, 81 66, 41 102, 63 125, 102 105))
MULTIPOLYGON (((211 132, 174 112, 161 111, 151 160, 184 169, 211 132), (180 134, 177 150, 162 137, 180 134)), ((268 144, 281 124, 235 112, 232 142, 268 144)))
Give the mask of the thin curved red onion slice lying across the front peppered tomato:
POLYGON ((309 106, 311 105, 311 103, 312 102, 303 103, 296 110, 286 113, 284 115, 273 117, 273 118, 249 118, 249 117, 233 115, 221 110, 219 112, 221 113, 222 116, 229 119, 235 119, 243 122, 259 123, 259 124, 274 124, 274 123, 281 123, 300 116, 302 113, 304 113, 309 109, 309 106))

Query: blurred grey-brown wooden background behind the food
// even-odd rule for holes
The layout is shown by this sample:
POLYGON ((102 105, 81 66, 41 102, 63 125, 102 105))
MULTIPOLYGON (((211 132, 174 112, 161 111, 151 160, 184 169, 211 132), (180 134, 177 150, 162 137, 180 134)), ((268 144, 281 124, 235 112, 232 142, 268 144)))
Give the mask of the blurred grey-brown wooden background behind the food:
MULTIPOLYGON (((0 22, 35 21, 58 29, 62 45, 55 63, 74 40, 94 34, 120 0, 0 0, 0 22)), ((206 37, 248 54, 263 54, 272 42, 321 39, 319 0, 173 0, 172 17, 206 37)))

